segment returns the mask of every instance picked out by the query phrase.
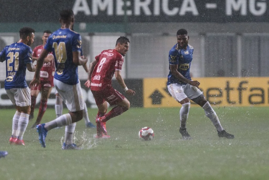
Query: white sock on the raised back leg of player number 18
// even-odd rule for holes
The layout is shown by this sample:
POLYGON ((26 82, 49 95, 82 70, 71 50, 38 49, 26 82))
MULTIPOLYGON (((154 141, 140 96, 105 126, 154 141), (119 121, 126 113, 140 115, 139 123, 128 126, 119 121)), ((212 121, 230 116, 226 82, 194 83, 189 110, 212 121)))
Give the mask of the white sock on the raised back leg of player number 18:
POLYGON ((56 118, 55 120, 45 123, 44 127, 46 130, 51 130, 55 127, 62 127, 72 123, 72 118, 69 113, 63 114, 62 116, 56 118))

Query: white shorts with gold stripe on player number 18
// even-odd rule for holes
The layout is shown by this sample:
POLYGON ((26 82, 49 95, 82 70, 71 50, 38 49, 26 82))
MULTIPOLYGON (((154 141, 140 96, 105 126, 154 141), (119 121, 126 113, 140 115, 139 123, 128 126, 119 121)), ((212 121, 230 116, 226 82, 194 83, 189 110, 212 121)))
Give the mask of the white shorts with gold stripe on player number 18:
POLYGON ((69 111, 75 112, 84 109, 80 81, 75 85, 69 85, 54 78, 53 82, 69 111))

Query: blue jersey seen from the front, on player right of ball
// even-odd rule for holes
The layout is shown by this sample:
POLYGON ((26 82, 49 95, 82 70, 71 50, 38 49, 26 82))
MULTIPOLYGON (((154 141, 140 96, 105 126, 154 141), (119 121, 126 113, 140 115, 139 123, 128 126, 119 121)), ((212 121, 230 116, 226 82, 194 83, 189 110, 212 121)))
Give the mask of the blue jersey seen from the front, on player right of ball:
POLYGON ((186 84, 179 79, 177 79, 170 70, 170 64, 178 65, 178 72, 182 74, 187 79, 191 80, 190 77, 190 64, 192 62, 193 56, 193 47, 187 45, 187 49, 180 49, 179 45, 176 44, 172 49, 169 51, 169 74, 168 74, 168 81, 167 85, 169 84, 186 84))

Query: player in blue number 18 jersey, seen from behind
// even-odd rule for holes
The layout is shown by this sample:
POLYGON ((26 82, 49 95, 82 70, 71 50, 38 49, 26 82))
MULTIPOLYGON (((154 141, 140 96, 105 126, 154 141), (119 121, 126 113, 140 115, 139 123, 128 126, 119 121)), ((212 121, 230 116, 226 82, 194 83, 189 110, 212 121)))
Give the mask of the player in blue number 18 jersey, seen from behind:
POLYGON ((59 95, 66 102, 69 113, 59 116, 45 124, 37 125, 39 140, 42 147, 46 147, 45 138, 47 132, 56 127, 66 126, 65 142, 63 150, 78 149, 73 143, 73 133, 76 122, 83 117, 84 100, 77 72, 77 66, 87 63, 87 59, 81 57, 81 36, 71 30, 75 22, 74 12, 70 9, 60 12, 61 28, 53 32, 47 41, 41 55, 37 60, 37 70, 30 86, 40 83, 40 69, 44 58, 49 52, 53 52, 56 71, 54 74, 54 86, 59 95))

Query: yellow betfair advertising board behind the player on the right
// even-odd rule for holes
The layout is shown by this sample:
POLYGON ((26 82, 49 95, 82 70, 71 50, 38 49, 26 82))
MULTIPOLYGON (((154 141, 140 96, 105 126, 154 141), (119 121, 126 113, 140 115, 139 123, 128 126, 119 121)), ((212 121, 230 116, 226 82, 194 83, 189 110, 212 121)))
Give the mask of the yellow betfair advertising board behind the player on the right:
MULTIPOLYGON (((269 106, 269 77, 204 77, 193 80, 201 83, 199 88, 212 105, 269 106)), ((143 87, 144 107, 181 107, 167 90, 167 78, 146 78, 143 87)), ((192 102, 192 106, 194 104, 192 102)))

